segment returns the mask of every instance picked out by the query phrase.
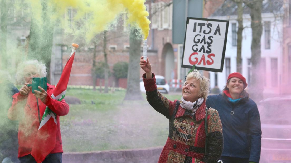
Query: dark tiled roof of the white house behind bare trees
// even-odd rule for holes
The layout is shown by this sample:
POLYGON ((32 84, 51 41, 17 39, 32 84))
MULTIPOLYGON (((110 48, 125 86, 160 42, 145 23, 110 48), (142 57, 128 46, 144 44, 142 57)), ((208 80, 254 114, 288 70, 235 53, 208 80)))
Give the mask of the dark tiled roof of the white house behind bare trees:
MULTIPOLYGON (((262 4, 262 13, 283 13, 283 3, 283 0, 264 0, 262 4)), ((244 5, 244 3, 243 7, 243 14, 250 14, 250 8, 244 5)), ((225 0, 211 16, 214 17, 229 15, 237 15, 237 4, 233 0, 225 0)))

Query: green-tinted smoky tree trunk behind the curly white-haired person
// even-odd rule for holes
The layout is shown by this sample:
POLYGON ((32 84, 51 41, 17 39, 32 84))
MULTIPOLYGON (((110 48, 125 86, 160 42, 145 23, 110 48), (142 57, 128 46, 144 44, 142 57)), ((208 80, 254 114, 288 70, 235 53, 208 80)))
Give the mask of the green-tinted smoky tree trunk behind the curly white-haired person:
POLYGON ((50 63, 52 56, 53 44, 53 23, 47 15, 47 1, 42 0, 42 23, 37 24, 36 21, 31 19, 31 27, 29 31, 29 59, 37 59, 42 61, 47 66, 47 82, 50 83, 50 63))

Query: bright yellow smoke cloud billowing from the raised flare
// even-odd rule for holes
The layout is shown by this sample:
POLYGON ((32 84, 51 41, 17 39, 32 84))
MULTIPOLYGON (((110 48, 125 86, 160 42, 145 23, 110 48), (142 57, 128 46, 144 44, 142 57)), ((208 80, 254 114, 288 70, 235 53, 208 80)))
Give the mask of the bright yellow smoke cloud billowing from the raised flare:
POLYGON ((30 4, 32 17, 38 25, 41 26, 46 21, 40 16, 45 12, 48 18, 65 29, 65 32, 86 36, 87 41, 107 30, 111 24, 116 23, 118 16, 124 13, 127 13, 127 23, 140 27, 144 39, 148 37, 150 30, 145 0, 48 0, 45 11, 41 7, 41 0, 25 2, 30 4), (68 9, 71 9, 70 12, 68 9))

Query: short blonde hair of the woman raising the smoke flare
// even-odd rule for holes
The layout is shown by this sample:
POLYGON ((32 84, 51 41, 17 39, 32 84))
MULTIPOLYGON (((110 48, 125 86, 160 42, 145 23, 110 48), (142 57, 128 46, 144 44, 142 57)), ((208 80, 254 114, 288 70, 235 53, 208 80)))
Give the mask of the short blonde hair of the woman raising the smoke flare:
MULTIPOLYGON (((190 72, 187 77, 186 77, 186 81, 189 79, 196 79, 199 81, 200 83, 200 94, 202 94, 202 97, 204 99, 207 99, 208 93, 209 93, 209 79, 207 79, 205 76, 202 76, 198 70, 193 70, 192 72, 190 72)), ((185 82, 184 82, 185 83, 185 82)))

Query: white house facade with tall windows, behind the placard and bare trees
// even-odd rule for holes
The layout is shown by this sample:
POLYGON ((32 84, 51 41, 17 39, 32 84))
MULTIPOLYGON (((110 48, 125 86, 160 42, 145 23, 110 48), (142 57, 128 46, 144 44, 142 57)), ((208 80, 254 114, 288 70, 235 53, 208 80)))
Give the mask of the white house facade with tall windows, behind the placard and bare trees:
MULTIPOLYGON (((280 81, 282 77, 282 38, 283 38, 283 7, 281 3, 276 3, 275 8, 271 8, 263 4, 262 10, 262 37, 261 37, 261 65, 262 72, 258 72, 264 76, 259 84, 264 85, 264 94, 280 94, 280 81), (265 8, 264 8, 265 7, 265 8)), ((269 3, 266 1, 265 3, 269 3)), ((219 8, 218 10, 222 10, 219 8)), ((225 10, 225 9, 223 9, 225 10)), ((237 71, 237 15, 217 14, 214 12, 209 19, 229 20, 228 37, 226 44, 225 59, 223 72, 209 72, 211 88, 218 87, 220 90, 224 88, 229 73, 237 71)), ((251 79, 251 42, 252 29, 251 17, 248 11, 244 11, 242 32, 242 75, 246 77, 247 83, 250 84, 251 79)), ((257 83, 258 84, 258 83, 257 83)))

